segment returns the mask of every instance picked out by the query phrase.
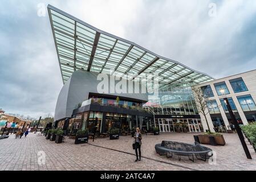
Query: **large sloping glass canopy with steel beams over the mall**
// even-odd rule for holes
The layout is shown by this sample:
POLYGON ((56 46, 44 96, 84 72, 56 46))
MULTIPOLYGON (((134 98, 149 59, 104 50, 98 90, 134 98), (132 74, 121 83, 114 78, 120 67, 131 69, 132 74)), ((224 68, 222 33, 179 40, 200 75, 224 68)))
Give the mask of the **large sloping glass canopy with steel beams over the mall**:
POLYGON ((213 80, 205 73, 101 31, 51 5, 48 5, 48 14, 63 83, 76 70, 127 76, 129 80, 156 73, 162 88, 213 80))

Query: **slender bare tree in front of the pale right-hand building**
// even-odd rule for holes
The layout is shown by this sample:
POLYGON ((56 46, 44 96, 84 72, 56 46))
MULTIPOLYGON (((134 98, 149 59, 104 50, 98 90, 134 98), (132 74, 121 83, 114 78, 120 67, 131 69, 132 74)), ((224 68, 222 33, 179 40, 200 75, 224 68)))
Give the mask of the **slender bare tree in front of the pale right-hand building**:
POLYGON ((193 88, 192 91, 194 93, 194 100, 196 102, 198 112, 204 115, 205 121, 207 123, 208 131, 209 133, 211 133, 209 123, 206 118, 206 114, 209 114, 208 106, 206 104, 206 102, 209 101, 209 98, 204 97, 204 94, 202 93, 201 88, 193 88))

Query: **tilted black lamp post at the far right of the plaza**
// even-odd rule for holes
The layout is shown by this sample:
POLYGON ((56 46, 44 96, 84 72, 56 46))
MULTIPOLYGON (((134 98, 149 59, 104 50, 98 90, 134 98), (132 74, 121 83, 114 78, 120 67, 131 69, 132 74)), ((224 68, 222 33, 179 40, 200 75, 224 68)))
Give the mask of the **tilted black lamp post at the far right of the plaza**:
MULTIPOLYGON (((222 94, 225 93, 225 91, 223 89, 220 90, 220 91, 221 91, 222 94)), ((238 134, 240 142, 241 142, 241 144, 243 146, 243 150, 245 151, 246 157, 247 157, 247 159, 251 159, 250 151, 248 150, 248 147, 247 147, 247 145, 245 143, 245 138, 243 137, 242 130, 241 130, 240 126, 238 125, 237 119, 235 118, 235 115, 233 113, 233 110, 231 109, 229 101, 227 100, 227 97, 225 97, 223 99, 224 99, 224 102, 225 102, 225 104, 227 106, 227 110, 229 111, 229 115, 231 117, 231 121, 232 121, 232 123, 235 126, 235 130, 237 130, 237 134, 238 134)))

